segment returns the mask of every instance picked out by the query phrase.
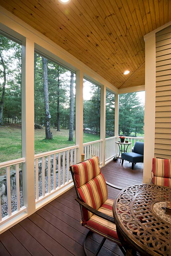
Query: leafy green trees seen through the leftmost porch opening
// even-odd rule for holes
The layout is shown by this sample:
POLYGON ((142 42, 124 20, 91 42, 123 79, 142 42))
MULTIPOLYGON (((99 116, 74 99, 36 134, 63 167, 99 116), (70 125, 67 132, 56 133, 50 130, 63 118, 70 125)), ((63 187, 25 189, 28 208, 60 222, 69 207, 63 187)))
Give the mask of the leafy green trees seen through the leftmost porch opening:
POLYGON ((21 120, 21 46, 0 35, 0 124, 21 120), (14 99, 15 95, 15 99, 14 99), (18 106, 16 102, 18 101, 18 106), (4 115, 5 113, 5 115, 4 115), (11 116, 13 113, 13 116, 11 116))

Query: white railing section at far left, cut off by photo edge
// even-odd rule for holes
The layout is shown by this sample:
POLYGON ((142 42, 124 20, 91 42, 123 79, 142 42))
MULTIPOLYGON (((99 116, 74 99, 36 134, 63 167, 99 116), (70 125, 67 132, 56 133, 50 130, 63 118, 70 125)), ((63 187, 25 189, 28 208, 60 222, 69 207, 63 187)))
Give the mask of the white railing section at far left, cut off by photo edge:
MULTIPOLYGON (((0 196, 0 225, 5 224, 11 219, 16 218, 21 213, 27 211, 27 207, 23 206, 23 203, 21 203, 21 200, 23 200, 23 198, 20 198, 19 165, 21 165, 22 163, 25 163, 25 158, 19 158, 16 160, 0 163, 0 169, 6 168, 6 179, 4 179, 6 194, 4 194, 3 196, 5 198, 7 197, 7 201, 3 205, 1 205, 0 196), (13 188, 16 186, 15 191, 11 191, 10 171, 13 171, 13 182, 15 181, 15 184, 13 184, 13 188), (12 197, 11 194, 13 194, 12 197), (6 207, 7 211, 3 210, 3 208, 6 209, 6 207)), ((22 167, 20 168, 20 170, 22 170, 22 167)))

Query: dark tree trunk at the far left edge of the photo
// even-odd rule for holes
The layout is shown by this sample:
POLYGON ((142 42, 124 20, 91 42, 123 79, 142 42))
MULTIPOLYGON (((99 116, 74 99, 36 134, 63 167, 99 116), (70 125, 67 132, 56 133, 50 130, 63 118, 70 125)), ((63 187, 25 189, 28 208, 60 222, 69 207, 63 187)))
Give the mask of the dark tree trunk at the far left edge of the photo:
POLYGON ((7 78, 6 78, 6 66, 3 60, 3 57, 0 53, 0 58, 1 58, 1 64, 3 66, 3 78, 4 81, 2 83, 2 95, 1 95, 1 101, 0 101, 0 125, 3 124, 3 108, 4 108, 4 97, 5 97, 5 87, 6 87, 6 82, 7 82, 7 78))

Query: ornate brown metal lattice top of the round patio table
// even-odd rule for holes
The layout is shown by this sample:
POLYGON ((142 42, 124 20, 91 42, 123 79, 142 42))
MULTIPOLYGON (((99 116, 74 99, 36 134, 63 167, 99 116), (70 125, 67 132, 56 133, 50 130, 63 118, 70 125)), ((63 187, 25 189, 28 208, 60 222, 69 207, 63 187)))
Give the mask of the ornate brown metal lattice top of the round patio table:
POLYGON ((114 202, 117 232, 143 255, 171 255, 171 224, 153 205, 171 200, 171 188, 139 184, 123 189, 114 202))

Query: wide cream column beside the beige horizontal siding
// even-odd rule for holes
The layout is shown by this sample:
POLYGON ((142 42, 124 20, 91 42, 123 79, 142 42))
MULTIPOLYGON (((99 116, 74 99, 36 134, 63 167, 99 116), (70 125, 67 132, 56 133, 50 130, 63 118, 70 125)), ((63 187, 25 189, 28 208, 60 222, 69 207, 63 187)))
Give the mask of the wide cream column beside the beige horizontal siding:
POLYGON ((145 63, 143 183, 150 183, 155 140, 155 33, 145 39, 145 63))

